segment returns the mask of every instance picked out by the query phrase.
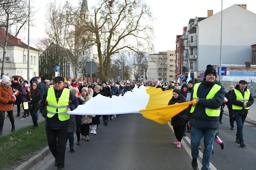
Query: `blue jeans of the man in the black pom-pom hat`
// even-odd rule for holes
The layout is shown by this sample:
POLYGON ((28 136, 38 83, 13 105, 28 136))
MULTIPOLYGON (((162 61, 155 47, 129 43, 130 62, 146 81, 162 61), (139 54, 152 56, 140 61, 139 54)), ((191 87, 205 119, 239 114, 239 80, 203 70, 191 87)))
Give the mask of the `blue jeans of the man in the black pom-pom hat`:
POLYGON ((212 144, 215 138, 216 129, 198 129, 192 127, 191 129, 191 156, 192 158, 198 158, 200 140, 203 137, 204 149, 201 170, 208 170, 211 160, 212 144))

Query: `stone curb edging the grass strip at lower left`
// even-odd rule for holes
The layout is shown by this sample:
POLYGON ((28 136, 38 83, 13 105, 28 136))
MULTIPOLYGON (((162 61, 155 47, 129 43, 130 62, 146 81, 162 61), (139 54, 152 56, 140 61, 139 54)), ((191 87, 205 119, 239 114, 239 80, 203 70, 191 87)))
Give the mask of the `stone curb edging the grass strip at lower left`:
POLYGON ((51 153, 51 151, 49 149, 49 146, 47 146, 42 151, 40 151, 38 154, 34 155, 28 161, 22 163, 21 165, 19 165, 14 170, 27 170, 27 169, 31 169, 34 165, 36 165, 38 162, 42 161, 50 153, 51 153))

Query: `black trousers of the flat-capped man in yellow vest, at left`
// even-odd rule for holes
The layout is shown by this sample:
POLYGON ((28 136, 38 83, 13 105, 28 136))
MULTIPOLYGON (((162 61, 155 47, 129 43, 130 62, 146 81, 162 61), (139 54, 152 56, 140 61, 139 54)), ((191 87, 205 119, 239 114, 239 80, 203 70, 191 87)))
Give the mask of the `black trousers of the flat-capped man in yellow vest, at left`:
POLYGON ((65 152, 66 152, 66 138, 68 135, 67 129, 50 129, 46 127, 46 136, 49 148, 57 160, 58 168, 64 168, 65 152))

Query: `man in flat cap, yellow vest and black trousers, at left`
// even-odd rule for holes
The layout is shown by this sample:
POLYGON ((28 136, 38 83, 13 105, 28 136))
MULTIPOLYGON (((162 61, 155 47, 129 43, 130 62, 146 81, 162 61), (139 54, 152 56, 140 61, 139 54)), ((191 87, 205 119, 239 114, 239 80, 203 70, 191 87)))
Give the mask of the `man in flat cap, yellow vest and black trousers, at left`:
POLYGON ((48 89, 39 105, 40 112, 46 119, 48 145, 55 158, 54 165, 58 167, 58 170, 64 168, 65 162, 65 145, 69 127, 67 112, 75 110, 79 105, 74 94, 64 88, 64 80, 64 77, 55 77, 54 87, 48 89))

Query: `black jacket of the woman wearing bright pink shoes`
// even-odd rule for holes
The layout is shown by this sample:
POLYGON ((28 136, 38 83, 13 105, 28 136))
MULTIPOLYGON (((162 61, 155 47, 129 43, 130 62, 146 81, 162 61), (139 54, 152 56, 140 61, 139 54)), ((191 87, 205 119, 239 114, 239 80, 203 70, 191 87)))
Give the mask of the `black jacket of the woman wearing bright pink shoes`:
MULTIPOLYGON (((171 100, 169 101, 168 105, 172 105, 172 104, 175 104, 175 103, 184 103, 186 102, 186 98, 182 95, 179 95, 179 97, 177 99, 175 99, 174 97, 171 98, 171 100)), ((179 115, 187 115, 187 109, 181 111, 180 113, 178 113, 177 115, 173 116, 172 119, 171 119, 171 125, 174 126, 174 127, 178 127, 178 126, 182 126, 182 125, 185 125, 187 124, 187 122, 182 122, 180 120, 180 117, 179 115)))

